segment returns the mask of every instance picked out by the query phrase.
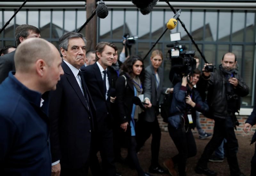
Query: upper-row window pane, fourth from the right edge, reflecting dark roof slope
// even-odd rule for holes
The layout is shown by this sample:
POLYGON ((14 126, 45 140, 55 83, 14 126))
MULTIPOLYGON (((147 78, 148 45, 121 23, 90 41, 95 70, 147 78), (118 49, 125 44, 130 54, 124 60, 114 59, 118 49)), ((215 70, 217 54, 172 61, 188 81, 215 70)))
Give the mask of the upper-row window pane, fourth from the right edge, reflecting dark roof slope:
POLYGON ((205 13, 205 41, 216 41, 217 39, 217 11, 206 11, 205 13))

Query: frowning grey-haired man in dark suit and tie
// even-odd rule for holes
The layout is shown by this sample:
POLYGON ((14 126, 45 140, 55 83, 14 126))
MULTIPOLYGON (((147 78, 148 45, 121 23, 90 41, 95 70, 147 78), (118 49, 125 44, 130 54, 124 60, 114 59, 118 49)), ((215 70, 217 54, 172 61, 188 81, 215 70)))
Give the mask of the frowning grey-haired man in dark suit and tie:
POLYGON ((85 47, 81 33, 68 32, 59 39, 64 75, 50 92, 49 106, 52 175, 56 176, 88 173, 95 106, 80 71, 85 47))

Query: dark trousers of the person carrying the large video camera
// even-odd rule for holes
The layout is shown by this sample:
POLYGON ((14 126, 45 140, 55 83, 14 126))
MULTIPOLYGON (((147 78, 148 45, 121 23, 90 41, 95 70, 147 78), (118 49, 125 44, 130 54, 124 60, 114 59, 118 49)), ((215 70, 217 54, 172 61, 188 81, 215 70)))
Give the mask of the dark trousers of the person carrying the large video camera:
POLYGON ((168 124, 168 131, 172 140, 179 151, 172 160, 174 163, 178 163, 178 171, 180 176, 185 176, 187 158, 196 155, 196 142, 191 129, 186 132, 184 128, 173 128, 168 124))

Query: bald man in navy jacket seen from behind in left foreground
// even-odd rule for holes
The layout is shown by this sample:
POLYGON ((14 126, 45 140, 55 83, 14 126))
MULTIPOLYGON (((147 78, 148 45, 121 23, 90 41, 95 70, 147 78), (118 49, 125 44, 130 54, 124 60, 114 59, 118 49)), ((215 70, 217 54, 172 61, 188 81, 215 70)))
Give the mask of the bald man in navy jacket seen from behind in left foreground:
POLYGON ((22 42, 14 55, 15 72, 0 85, 1 175, 50 176, 51 152, 47 99, 63 74, 58 50, 44 39, 22 42))

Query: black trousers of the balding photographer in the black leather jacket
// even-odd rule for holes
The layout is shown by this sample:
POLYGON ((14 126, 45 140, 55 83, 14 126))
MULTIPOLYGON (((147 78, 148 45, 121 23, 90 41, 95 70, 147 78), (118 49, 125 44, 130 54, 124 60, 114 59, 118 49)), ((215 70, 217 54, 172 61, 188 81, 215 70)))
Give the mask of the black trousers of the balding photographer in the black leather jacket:
POLYGON ((207 167, 208 159, 211 157, 213 151, 215 151, 220 146, 224 138, 227 139, 226 155, 228 159, 230 175, 239 175, 240 169, 236 158, 238 142, 234 131, 234 125, 230 116, 226 117, 226 119, 215 118, 212 139, 204 148, 204 152, 198 161, 198 165, 204 168, 207 167))

